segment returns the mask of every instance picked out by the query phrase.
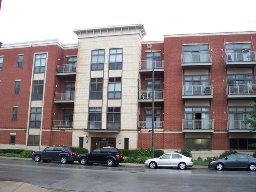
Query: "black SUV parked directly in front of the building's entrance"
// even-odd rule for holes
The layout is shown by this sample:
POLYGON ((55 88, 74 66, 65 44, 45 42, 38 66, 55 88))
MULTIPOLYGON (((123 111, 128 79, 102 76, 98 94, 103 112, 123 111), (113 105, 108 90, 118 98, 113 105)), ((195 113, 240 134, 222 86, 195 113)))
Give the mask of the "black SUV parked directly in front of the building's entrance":
POLYGON ((107 164, 109 167, 116 167, 119 163, 124 162, 122 152, 117 148, 104 147, 100 149, 94 149, 87 154, 80 154, 78 162, 81 165, 92 165, 93 163, 107 164))

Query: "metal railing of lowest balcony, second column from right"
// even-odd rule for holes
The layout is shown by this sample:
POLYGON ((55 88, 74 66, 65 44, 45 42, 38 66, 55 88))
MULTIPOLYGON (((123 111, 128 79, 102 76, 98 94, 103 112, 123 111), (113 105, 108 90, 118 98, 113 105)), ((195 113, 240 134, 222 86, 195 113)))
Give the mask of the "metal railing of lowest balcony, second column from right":
POLYGON ((214 119, 182 119, 182 129, 213 130, 214 119))

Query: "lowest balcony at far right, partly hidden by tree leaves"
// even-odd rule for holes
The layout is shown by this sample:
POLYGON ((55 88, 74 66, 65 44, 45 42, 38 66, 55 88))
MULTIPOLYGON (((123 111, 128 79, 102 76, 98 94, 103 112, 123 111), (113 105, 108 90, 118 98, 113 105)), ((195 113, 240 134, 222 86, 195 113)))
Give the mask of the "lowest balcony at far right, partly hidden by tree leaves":
POLYGON ((244 119, 228 119, 227 128, 228 132, 250 132, 249 125, 243 123, 244 119))

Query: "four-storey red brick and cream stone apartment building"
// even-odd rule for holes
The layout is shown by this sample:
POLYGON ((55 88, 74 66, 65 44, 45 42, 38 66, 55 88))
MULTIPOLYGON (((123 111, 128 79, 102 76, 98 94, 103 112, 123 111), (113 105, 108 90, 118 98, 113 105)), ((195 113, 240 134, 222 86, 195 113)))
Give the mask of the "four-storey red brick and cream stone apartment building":
POLYGON ((151 148, 154 124, 155 149, 165 152, 255 151, 248 144, 256 133, 243 119, 256 99, 256 32, 156 42, 143 41, 143 25, 74 32, 78 44, 0 48, 1 148, 151 148))

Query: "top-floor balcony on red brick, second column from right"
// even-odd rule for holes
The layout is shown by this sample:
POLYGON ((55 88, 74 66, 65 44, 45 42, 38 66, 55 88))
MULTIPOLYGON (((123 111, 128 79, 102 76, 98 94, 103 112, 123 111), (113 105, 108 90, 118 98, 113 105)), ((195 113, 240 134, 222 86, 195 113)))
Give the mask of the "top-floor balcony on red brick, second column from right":
POLYGON ((181 66, 183 69, 203 69, 212 66, 211 53, 183 53, 181 54, 181 66))

